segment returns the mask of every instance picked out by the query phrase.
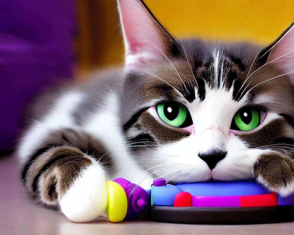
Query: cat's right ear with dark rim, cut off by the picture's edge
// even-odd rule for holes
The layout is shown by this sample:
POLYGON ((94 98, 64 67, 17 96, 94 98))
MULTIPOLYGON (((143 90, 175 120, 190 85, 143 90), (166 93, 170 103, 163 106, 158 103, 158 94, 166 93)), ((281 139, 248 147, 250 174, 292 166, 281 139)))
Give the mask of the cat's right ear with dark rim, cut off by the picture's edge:
POLYGON ((260 55, 262 63, 273 63, 284 73, 289 73, 294 84, 294 22, 260 55))

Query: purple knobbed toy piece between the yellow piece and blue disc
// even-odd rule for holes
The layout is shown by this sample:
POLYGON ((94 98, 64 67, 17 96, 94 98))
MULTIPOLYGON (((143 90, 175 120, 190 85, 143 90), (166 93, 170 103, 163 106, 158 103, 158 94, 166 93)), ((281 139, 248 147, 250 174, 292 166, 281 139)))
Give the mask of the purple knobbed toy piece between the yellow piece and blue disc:
POLYGON ((121 185, 126 192, 128 210, 125 219, 138 217, 149 205, 149 195, 146 190, 121 177, 113 179, 113 182, 121 185))

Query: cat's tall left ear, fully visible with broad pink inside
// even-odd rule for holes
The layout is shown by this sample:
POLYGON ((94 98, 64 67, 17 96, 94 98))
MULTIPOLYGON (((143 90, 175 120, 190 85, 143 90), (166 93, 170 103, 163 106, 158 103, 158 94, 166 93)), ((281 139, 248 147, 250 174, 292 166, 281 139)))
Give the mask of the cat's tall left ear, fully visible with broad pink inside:
POLYGON ((127 70, 168 56, 174 41, 141 0, 117 0, 127 70))

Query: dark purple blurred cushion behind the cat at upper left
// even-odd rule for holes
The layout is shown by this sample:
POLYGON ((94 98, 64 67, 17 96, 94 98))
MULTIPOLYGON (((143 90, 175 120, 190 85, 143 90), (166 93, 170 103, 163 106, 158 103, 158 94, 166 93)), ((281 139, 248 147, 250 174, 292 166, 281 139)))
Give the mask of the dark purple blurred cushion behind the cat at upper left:
POLYGON ((54 80, 72 77, 71 0, 0 1, 0 150, 11 148, 24 108, 54 80))

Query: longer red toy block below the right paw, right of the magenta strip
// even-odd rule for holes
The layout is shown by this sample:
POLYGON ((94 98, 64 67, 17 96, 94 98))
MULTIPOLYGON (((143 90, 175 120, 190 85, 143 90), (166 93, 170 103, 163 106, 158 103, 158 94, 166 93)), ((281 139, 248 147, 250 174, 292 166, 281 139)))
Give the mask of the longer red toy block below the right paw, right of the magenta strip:
POLYGON ((278 199, 275 193, 240 196, 240 207, 270 207, 277 206, 278 199))

